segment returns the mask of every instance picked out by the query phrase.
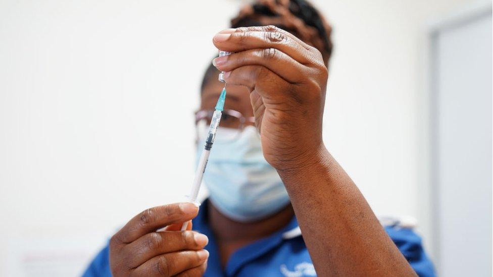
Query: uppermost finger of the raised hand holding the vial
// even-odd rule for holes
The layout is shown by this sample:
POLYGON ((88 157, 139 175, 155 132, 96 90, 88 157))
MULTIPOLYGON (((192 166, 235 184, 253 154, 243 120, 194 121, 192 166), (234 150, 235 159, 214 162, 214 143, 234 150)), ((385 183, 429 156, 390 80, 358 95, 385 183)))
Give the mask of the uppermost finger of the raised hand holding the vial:
POLYGON ((218 49, 232 52, 276 48, 303 65, 315 60, 312 46, 275 26, 227 29, 216 34, 213 43, 218 49))

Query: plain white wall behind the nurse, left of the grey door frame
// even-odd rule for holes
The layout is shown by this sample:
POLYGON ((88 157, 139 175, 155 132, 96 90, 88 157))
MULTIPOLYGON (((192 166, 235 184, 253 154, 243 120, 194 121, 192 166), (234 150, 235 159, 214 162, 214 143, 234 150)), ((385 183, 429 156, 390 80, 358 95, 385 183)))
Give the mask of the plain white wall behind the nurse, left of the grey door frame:
MULTIPOLYGON (((424 27, 468 2, 316 2, 335 43, 324 139, 377 214, 426 214, 424 27)), ((0 274, 76 274, 131 216, 183 199, 211 39, 237 6, 0 1, 0 274)))

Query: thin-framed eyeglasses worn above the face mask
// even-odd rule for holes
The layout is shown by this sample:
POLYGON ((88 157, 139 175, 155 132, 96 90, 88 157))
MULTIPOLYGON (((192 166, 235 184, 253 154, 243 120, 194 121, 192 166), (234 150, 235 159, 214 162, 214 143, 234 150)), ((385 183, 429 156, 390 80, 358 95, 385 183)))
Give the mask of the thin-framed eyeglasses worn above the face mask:
MULTIPOLYGON (((201 109, 195 113, 196 139, 199 142, 205 140, 213 114, 214 109, 201 109)), ((216 140, 235 140, 241 134, 241 131, 249 125, 255 125, 255 117, 244 117, 237 110, 225 109, 221 115, 221 121, 219 122, 219 127, 221 128, 217 130, 216 140)))

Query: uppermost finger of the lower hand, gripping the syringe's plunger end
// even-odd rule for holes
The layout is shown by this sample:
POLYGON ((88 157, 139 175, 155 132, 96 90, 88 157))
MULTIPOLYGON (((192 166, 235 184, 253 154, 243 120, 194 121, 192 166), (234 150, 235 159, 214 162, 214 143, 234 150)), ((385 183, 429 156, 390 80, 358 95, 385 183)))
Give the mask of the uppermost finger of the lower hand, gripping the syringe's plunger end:
POLYGON ((173 203, 146 209, 135 215, 115 236, 121 243, 131 243, 164 226, 183 223, 194 218, 199 207, 190 202, 173 203))

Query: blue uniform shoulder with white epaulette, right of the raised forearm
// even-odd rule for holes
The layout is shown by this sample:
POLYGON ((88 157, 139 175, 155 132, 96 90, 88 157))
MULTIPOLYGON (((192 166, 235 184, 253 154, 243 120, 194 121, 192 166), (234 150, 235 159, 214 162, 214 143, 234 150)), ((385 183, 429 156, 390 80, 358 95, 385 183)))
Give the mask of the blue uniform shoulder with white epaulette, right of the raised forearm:
POLYGON ((431 260, 424 251, 421 237, 414 231, 416 220, 411 217, 379 218, 390 239, 396 244, 419 276, 434 276, 431 260))

